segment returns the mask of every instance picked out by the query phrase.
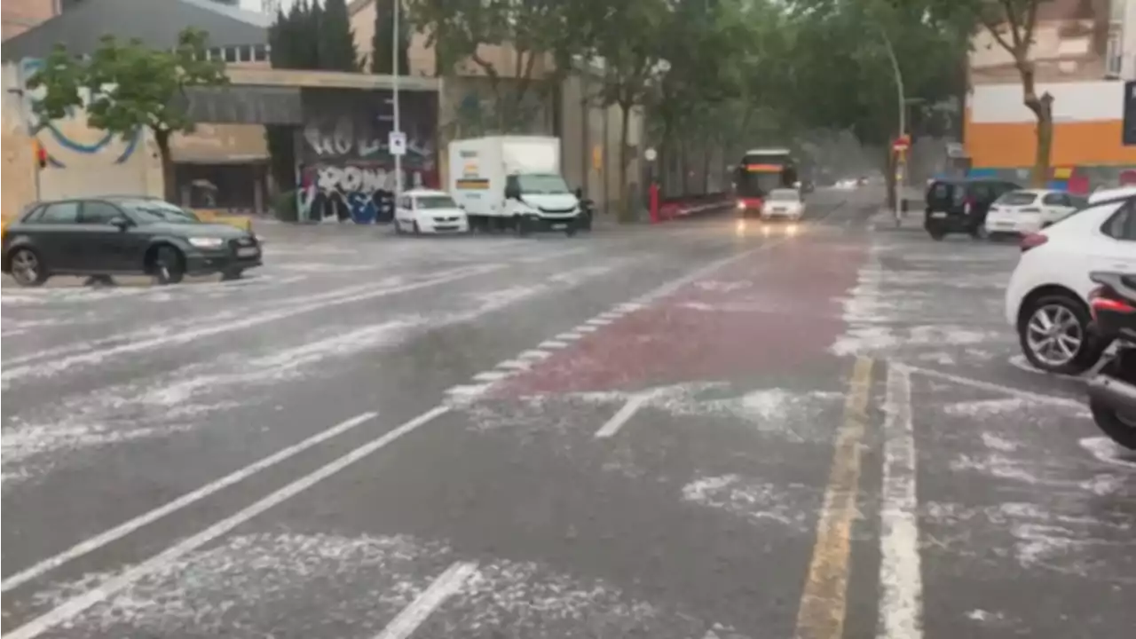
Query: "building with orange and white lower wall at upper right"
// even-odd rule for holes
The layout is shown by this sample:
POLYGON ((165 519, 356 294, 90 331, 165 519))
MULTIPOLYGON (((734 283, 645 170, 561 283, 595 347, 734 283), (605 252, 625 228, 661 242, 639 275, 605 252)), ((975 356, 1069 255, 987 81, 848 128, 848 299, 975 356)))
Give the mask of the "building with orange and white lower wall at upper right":
MULTIPOLYGON (((1136 168, 1136 147, 1122 143, 1124 81, 1136 77, 1136 0, 1042 3, 1031 56, 1038 92, 1053 97, 1052 184, 1085 190, 1136 168)), ((1013 59, 980 30, 969 63, 964 142, 972 171, 1025 180, 1036 119, 1022 103, 1013 59)))

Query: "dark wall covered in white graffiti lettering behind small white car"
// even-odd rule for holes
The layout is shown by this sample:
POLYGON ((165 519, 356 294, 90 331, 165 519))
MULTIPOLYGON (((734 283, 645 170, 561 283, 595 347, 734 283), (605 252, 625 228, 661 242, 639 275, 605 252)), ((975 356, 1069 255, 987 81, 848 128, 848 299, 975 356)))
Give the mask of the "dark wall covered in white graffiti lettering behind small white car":
MULTIPOLYGON (((304 125, 296 142, 303 219, 386 223, 394 217, 390 91, 304 89, 304 125)), ((437 93, 400 92, 404 189, 437 188, 437 93)))

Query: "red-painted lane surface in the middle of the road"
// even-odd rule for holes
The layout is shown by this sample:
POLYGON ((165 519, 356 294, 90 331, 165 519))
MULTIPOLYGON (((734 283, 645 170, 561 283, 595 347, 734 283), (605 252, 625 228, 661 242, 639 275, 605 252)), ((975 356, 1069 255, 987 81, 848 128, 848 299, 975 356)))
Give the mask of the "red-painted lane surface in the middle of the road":
POLYGON ((721 267, 556 351, 492 395, 638 390, 835 358, 867 246, 794 238, 721 267))

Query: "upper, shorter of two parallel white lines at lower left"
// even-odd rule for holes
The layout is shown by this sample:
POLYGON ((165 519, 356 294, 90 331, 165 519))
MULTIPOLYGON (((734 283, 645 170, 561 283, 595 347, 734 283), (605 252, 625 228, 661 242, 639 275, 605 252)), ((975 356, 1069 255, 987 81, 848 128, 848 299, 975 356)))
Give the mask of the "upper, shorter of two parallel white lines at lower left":
POLYGON ((24 583, 27 583, 33 579, 39 579, 40 576, 43 576, 48 572, 68 562, 75 561, 84 555, 93 553, 94 550, 98 550, 103 546, 107 546, 108 543, 111 543, 114 541, 117 541, 126 537, 127 534, 139 530, 140 528, 149 525, 167 515, 170 515, 187 506, 191 506, 204 499, 206 497, 214 495, 215 492, 228 488, 229 486, 244 481, 245 479, 259 473, 260 471, 264 471, 265 468, 269 468, 272 466, 275 466, 276 464, 279 464, 281 462, 285 462, 292 457, 295 457, 300 453, 303 453, 304 450, 314 446, 317 446, 319 443, 323 443, 336 435, 345 433, 361 424, 365 424, 374 420, 377 416, 378 413, 364 413, 362 415, 352 417, 331 429, 327 429, 326 431, 321 431, 318 434, 312 435, 299 443, 281 449, 274 453, 273 455, 269 455, 268 457, 260 459, 254 464, 251 464, 239 471, 229 473, 217 481, 207 483, 206 486, 202 486, 201 488, 194 490, 193 492, 187 492, 178 497, 177 499, 167 503, 164 506, 150 511, 149 513, 139 515, 137 517, 134 517, 133 520, 130 520, 116 528, 112 528, 95 537, 86 539, 85 541, 76 543, 75 546, 68 548, 67 550, 59 553, 58 555, 43 559, 42 562, 39 562, 37 564, 32 565, 0 581, 0 595, 15 590, 16 588, 23 586, 24 583))

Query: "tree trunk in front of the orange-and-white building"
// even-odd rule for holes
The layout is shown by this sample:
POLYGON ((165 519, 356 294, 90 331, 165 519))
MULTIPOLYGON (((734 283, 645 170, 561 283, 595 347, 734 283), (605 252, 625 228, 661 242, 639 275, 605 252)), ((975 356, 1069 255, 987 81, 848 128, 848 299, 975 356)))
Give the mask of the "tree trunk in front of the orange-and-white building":
MULTIPOLYGON (((1049 0, 937 0, 936 11, 945 19, 985 30, 1013 58, 1021 80, 1021 103, 1037 122, 1034 168, 1030 182, 1044 186, 1050 176, 1053 150, 1053 94, 1038 93, 1037 68, 1031 49, 1042 5, 1049 0)), ((1102 10, 1097 9, 1100 13, 1102 10)))

